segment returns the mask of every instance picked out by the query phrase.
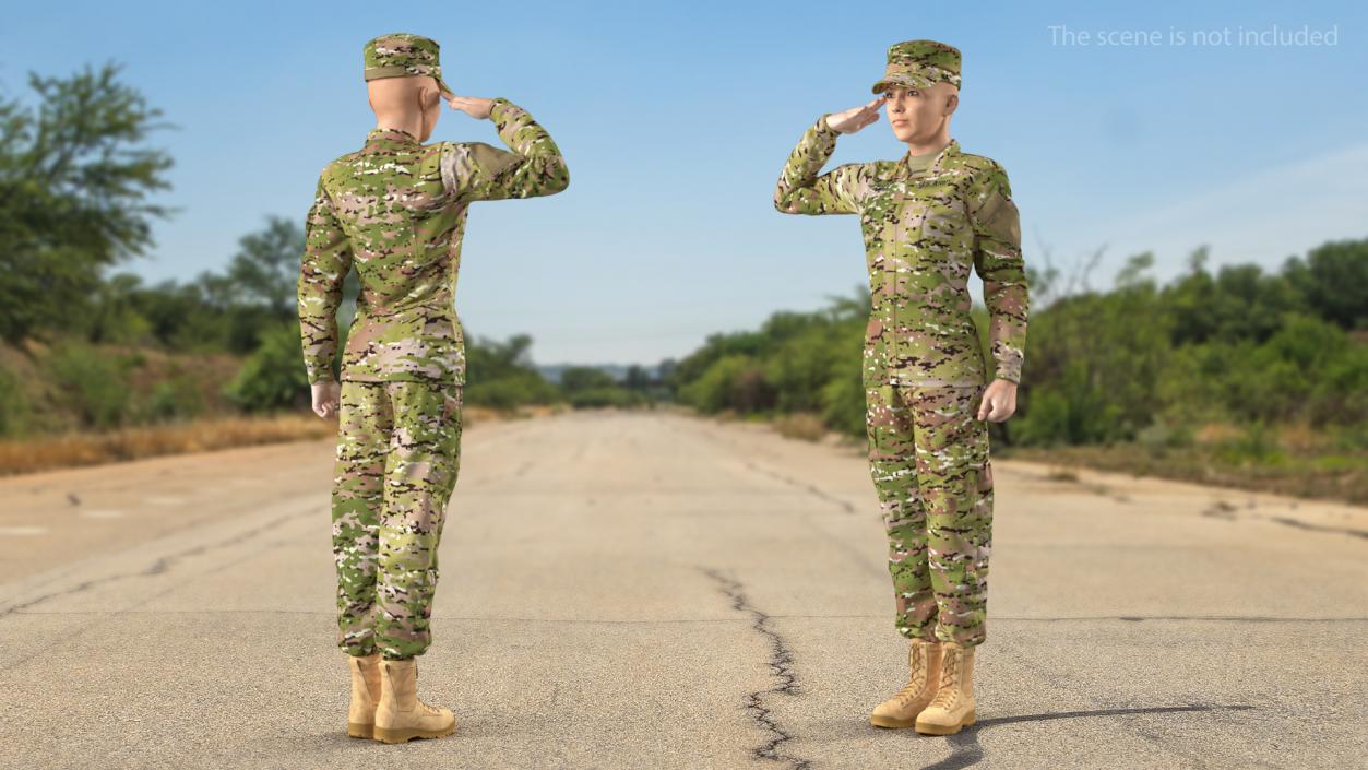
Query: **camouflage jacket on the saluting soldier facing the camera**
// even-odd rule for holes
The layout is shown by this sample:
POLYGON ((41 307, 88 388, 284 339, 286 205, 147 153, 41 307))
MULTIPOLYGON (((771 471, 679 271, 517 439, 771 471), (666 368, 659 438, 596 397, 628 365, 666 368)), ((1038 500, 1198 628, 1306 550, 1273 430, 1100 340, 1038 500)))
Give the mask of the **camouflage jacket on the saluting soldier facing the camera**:
POLYGON ((807 129, 780 175, 774 208, 859 215, 871 295, 866 384, 985 383, 970 265, 984 280, 995 376, 1019 382, 1027 283, 1007 172, 992 159, 962 153, 952 140, 922 174, 910 171, 904 156, 818 176, 837 135, 826 115, 807 129))

